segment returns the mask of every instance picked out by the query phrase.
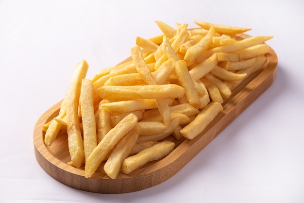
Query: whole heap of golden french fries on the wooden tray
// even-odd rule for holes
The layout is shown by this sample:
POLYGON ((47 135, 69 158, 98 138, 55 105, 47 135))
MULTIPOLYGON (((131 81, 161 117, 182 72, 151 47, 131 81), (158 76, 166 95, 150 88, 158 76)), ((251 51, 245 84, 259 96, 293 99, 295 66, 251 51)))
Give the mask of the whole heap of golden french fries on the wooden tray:
POLYGON ((265 63, 272 36, 238 39, 250 29, 194 22, 199 28, 156 21, 162 34, 137 37, 129 61, 92 79, 79 62, 58 116, 43 126, 45 144, 67 132, 69 165, 84 166, 88 178, 105 162, 115 179, 172 152, 168 136, 199 135, 223 111, 223 99, 265 63))

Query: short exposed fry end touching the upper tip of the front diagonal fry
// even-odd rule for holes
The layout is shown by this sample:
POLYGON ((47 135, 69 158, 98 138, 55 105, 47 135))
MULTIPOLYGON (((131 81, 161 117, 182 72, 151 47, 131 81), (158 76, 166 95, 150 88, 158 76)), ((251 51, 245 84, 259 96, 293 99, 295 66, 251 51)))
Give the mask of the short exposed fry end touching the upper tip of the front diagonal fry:
POLYGON ((167 129, 167 126, 159 121, 140 121, 138 124, 140 126, 140 136, 163 133, 167 129))

